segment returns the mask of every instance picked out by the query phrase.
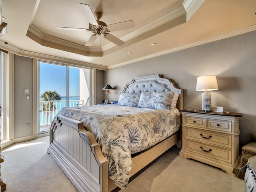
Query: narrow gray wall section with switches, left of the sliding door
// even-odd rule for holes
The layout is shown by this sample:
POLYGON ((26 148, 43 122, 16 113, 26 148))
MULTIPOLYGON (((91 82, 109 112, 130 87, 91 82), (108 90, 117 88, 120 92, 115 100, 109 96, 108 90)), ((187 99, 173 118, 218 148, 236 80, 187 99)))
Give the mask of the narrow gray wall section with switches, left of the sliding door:
POLYGON ((14 138, 33 134, 33 59, 14 56, 14 138), (30 94, 24 94, 29 89, 30 94), (26 100, 26 96, 30 96, 26 100), (26 127, 29 123, 30 127, 26 127))

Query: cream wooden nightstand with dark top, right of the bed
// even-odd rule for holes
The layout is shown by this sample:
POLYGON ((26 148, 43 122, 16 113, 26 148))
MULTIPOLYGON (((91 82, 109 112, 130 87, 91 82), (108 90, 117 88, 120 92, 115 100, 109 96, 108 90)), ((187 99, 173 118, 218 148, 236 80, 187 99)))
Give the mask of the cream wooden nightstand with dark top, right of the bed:
POLYGON ((221 168, 235 176, 241 113, 181 110, 182 149, 180 157, 221 168))

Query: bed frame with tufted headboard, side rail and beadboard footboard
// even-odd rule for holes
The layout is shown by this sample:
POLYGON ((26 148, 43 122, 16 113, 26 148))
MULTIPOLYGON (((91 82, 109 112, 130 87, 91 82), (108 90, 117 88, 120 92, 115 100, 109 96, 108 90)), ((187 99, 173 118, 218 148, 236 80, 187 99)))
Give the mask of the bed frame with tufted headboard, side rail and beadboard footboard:
MULTIPOLYGON (((133 78, 124 92, 176 91, 179 93, 177 108, 183 109, 182 89, 161 75, 133 78)), ((180 141, 180 131, 132 158, 130 176, 140 171, 174 144, 180 141)), ((103 156, 94 135, 84 129, 83 123, 65 116, 58 116, 50 127, 50 146, 58 165, 79 192, 110 192, 117 186, 108 178, 108 160, 103 156)))

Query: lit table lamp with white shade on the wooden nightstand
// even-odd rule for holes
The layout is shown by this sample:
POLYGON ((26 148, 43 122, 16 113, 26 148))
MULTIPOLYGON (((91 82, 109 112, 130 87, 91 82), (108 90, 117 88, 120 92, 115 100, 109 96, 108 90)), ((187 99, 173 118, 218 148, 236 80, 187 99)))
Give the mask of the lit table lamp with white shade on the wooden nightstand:
POLYGON ((204 91, 202 93, 202 110, 204 110, 204 112, 210 112, 212 107, 212 98, 209 91, 218 89, 217 78, 215 75, 207 75, 197 78, 196 90, 204 91))

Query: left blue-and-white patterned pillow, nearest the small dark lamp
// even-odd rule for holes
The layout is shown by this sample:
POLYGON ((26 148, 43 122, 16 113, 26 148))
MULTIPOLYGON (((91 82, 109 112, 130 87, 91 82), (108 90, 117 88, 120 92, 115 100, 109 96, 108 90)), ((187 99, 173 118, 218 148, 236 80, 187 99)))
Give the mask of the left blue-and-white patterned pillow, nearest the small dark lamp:
POLYGON ((120 98, 118 99, 118 105, 125 105, 136 107, 140 99, 140 93, 126 93, 121 92, 120 98))

